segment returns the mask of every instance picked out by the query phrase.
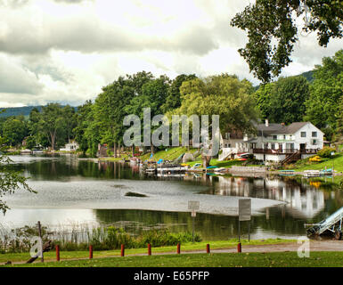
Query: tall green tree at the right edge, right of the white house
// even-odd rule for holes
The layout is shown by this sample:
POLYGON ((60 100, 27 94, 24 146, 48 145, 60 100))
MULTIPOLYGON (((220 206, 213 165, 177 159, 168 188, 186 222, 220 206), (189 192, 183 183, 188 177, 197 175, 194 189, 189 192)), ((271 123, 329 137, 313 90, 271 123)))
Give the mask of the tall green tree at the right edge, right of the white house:
POLYGON ((321 128, 331 139, 338 127, 339 102, 343 100, 343 50, 324 57, 322 65, 315 66, 314 83, 306 101, 306 120, 321 128))

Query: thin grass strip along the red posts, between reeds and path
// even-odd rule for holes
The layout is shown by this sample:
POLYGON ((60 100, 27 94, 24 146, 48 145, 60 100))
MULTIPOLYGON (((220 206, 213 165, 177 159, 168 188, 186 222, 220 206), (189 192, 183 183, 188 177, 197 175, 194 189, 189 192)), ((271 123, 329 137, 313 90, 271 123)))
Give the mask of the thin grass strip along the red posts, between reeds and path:
MULTIPOLYGON (((206 245, 209 243, 210 248, 220 249, 220 248, 235 248, 237 247, 238 240, 216 240, 216 241, 201 241, 196 243, 185 243, 181 245, 182 252, 192 251, 192 250, 206 250, 206 245)), ((241 240, 242 246, 244 245, 263 245, 263 244, 277 244, 284 242, 296 242, 296 240, 282 240, 282 239, 266 239, 266 240, 241 240)), ((163 253, 163 252, 176 252, 176 246, 171 247, 160 247, 153 248, 152 253, 163 253)), ((126 255, 135 254, 146 254, 147 248, 130 248, 125 250, 126 255)), ((88 251, 61 251, 61 259, 76 259, 76 258, 86 258, 89 256, 88 251)), ((94 251, 94 258, 107 257, 107 256, 120 256, 120 250, 102 250, 94 251)), ((0 254, 0 264, 4 264, 7 261, 12 262, 25 262, 29 260, 29 253, 6 253, 0 254)), ((54 250, 45 253, 45 261, 53 261, 56 258, 54 250)))

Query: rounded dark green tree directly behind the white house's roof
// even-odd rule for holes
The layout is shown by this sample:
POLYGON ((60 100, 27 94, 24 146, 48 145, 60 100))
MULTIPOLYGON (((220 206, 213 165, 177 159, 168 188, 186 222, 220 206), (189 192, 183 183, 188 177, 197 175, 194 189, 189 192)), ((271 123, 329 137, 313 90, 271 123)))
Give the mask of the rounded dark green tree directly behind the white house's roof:
POLYGON ((255 93, 261 117, 285 124, 303 120, 309 96, 308 82, 302 76, 281 77, 276 82, 261 85, 255 93))

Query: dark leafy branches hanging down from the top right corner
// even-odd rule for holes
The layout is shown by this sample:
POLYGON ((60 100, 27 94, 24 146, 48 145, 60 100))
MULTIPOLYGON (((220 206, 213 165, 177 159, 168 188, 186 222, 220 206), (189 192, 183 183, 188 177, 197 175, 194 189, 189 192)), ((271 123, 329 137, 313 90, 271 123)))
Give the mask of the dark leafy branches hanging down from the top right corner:
POLYGON ((302 30, 317 32, 318 44, 343 36, 343 2, 340 0, 257 0, 237 13, 231 25, 248 33, 249 41, 239 49, 250 71, 263 82, 277 77, 291 62, 298 41, 297 18, 304 17, 302 30))

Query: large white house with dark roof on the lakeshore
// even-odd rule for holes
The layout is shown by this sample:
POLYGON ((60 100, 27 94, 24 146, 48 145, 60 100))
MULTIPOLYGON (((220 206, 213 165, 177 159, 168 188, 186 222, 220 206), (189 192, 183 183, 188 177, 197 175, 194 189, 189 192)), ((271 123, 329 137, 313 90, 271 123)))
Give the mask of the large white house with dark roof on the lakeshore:
POLYGON ((253 153, 256 159, 282 161, 292 155, 294 159, 304 159, 323 149, 323 132, 310 122, 256 125, 256 135, 227 133, 221 138, 222 154, 225 159, 230 154, 253 153), (297 157, 297 158, 296 158, 297 157))

